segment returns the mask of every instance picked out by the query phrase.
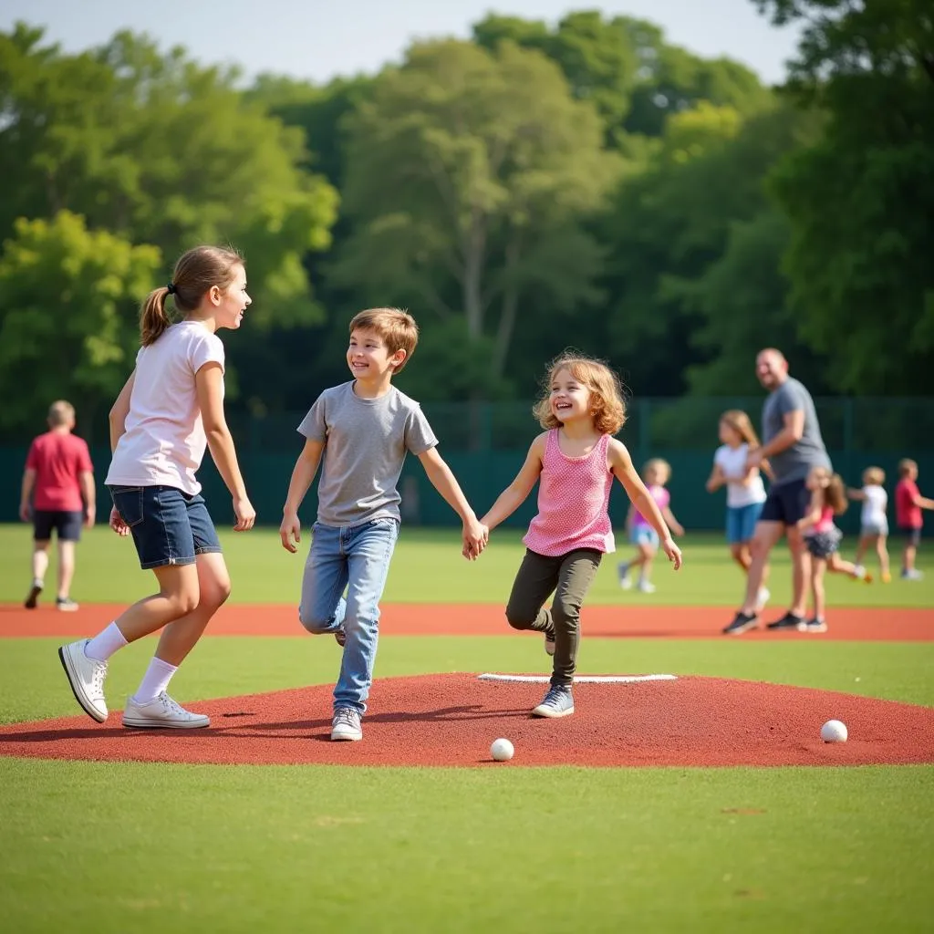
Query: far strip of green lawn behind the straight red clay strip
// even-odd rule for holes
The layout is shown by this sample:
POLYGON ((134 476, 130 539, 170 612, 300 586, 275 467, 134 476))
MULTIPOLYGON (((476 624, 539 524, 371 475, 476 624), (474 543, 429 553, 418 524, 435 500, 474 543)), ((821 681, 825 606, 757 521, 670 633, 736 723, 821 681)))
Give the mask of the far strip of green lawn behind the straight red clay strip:
MULTIPOLYGON (((221 543, 233 578, 232 601, 239 603, 295 603, 301 587, 302 570, 310 531, 306 531, 298 554, 291 555, 279 544, 278 532, 257 529, 246 534, 219 530, 221 543)), ((664 556, 657 562, 653 580, 658 590, 646 595, 623 591, 616 579, 616 564, 631 555, 631 546, 617 531, 619 550, 606 556, 587 597, 593 604, 626 603, 659 605, 733 606, 743 592, 743 574, 729 560, 720 535, 689 533, 681 541, 685 564, 675 573, 664 556)), ((844 554, 852 557, 855 543, 844 542, 844 554)), ((898 570, 897 543, 892 543, 892 563, 898 570)), ((934 547, 934 545, 932 545, 934 547)), ((25 525, 0 525, 0 603, 20 602, 29 587, 31 531, 25 525)), ((403 603, 504 603, 522 560, 521 532, 494 531, 488 549, 476 561, 460 556, 456 530, 426 530, 403 526, 389 570, 385 600, 403 603)), ((787 549, 775 549, 769 586, 773 604, 785 603, 790 595, 787 549)), ((922 550, 919 567, 924 568, 922 550)), ((54 559, 47 584, 53 585, 54 559)), ((871 571, 874 563, 869 562, 871 571)), ((78 546, 78 573, 72 593, 86 602, 132 602, 151 587, 152 576, 139 570, 133 542, 121 539, 105 526, 85 534, 78 546)), ((856 583, 829 574, 828 604, 837 606, 934 607, 934 569, 920 582, 894 580, 891 584, 856 583)))

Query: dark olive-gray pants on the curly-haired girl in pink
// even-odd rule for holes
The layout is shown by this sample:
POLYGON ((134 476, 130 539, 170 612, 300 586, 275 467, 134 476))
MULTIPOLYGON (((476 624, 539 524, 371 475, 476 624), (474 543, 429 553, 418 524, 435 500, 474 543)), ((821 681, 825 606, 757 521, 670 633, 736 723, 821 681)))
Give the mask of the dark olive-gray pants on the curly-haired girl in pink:
POLYGON ((581 605, 602 557, 595 548, 578 548, 557 558, 527 550, 522 559, 506 605, 506 619, 514 630, 554 632, 553 685, 573 682, 581 605), (552 593, 551 608, 545 610, 545 601, 552 593))

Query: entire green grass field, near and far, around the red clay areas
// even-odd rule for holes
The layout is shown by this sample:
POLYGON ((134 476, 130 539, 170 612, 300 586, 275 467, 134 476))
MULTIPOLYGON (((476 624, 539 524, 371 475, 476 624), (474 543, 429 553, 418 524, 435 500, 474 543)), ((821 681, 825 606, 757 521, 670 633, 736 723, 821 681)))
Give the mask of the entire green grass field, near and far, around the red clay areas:
MULTIPOLYGON (((242 602, 293 602, 302 559, 276 536, 224 536, 242 602)), ((0 601, 21 600, 28 532, 0 528, 0 601), (20 554, 21 561, 14 556, 20 554), (20 573, 20 570, 23 573, 20 573)), ((738 573, 712 538, 594 601, 730 604, 738 573)), ((391 601, 502 602, 521 547, 476 564, 449 532, 403 532, 391 601)), ((787 567, 774 569, 781 599, 787 567)), ((81 545, 75 596, 129 601, 149 581, 105 530, 81 545)), ((934 605, 929 582, 831 581, 831 606, 934 605)), ((934 623, 932 623, 934 625, 934 623)), ((72 715, 57 640, 0 642, 0 722, 72 715)), ((119 711, 149 640, 111 665, 119 711)), ((539 640, 384 636, 377 677, 540 672, 539 640)), ((332 640, 205 638, 180 701, 333 681, 332 640)), ((934 707, 934 643, 585 639, 580 670, 709 674, 934 707)), ((375 690, 378 690, 378 685, 375 690)), ((364 743, 366 741, 364 740, 364 743)), ((520 759, 517 758, 516 765, 520 759)), ((934 767, 353 769, 0 758, 0 930, 929 931, 934 767)))

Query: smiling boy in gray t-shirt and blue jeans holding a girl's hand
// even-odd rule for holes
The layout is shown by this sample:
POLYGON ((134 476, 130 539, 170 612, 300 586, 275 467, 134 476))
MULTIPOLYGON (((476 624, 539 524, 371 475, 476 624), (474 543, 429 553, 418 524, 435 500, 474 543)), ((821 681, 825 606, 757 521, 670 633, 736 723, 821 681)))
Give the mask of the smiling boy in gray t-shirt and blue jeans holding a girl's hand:
POLYGON ((438 454, 438 440, 421 407, 392 386, 392 376, 408 362, 417 342, 415 319, 406 312, 361 311, 350 322, 347 348, 354 379, 325 389, 298 428, 306 440, 292 471, 279 536, 283 547, 297 550, 298 509, 321 463, 318 521, 304 567, 299 619, 309 632, 333 633, 344 647, 334 687, 333 740, 363 738, 379 600, 399 534, 397 485, 409 451, 460 516, 463 554, 474 559, 487 545, 488 532, 438 454))

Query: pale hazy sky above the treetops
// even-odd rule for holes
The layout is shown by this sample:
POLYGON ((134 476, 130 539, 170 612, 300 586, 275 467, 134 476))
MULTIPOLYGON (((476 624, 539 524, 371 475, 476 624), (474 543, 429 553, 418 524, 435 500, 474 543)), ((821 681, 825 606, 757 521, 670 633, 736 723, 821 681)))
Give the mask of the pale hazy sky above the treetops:
POLYGON ((248 78, 274 72, 323 83, 398 62, 414 38, 467 37, 489 10, 559 21, 601 9, 658 23, 669 42, 748 65, 768 83, 785 75, 796 29, 775 29, 753 0, 0 0, 0 30, 45 26, 65 51, 99 45, 120 29, 182 45, 203 64, 239 64, 248 78))

